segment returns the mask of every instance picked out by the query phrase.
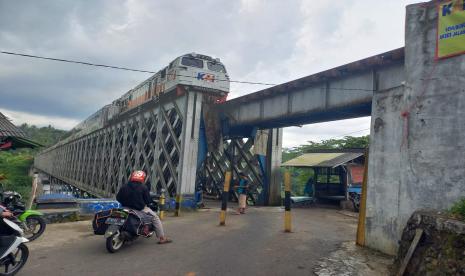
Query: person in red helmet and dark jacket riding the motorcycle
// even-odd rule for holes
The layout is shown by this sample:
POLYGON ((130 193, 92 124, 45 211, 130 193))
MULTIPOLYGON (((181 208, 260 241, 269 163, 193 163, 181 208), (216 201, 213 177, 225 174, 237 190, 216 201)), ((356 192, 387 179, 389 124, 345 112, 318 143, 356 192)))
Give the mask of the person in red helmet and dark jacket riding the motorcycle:
POLYGON ((116 200, 124 207, 143 211, 151 215, 153 217, 153 225, 155 227, 155 234, 158 237, 158 243, 169 243, 171 240, 165 236, 160 218, 157 213, 148 207, 152 200, 147 186, 144 185, 145 177, 146 174, 144 171, 134 171, 129 178, 129 182, 123 185, 118 191, 116 200))

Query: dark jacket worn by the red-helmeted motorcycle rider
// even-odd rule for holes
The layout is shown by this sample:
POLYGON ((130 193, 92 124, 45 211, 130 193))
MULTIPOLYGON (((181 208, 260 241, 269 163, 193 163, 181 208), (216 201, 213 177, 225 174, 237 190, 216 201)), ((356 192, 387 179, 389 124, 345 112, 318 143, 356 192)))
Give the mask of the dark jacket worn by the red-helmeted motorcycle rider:
POLYGON ((123 185, 116 195, 116 200, 124 207, 138 211, 144 209, 152 201, 147 186, 138 182, 129 182, 123 185))

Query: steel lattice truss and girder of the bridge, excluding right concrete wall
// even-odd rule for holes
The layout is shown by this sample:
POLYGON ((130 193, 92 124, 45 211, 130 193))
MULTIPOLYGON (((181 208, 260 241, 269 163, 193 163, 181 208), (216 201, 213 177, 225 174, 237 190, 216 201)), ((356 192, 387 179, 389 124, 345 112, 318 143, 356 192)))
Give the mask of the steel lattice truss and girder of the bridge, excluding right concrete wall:
POLYGON ((101 197, 113 197, 135 169, 147 172, 152 191, 187 199, 200 189, 219 198, 225 171, 231 170, 233 178, 245 172, 252 186, 250 204, 279 205, 281 128, 369 116, 373 93, 404 80, 400 48, 220 105, 207 92, 185 87, 183 93, 168 93, 104 128, 44 150, 35 167, 101 197), (219 126, 221 145, 216 147, 202 147, 209 136, 208 116, 219 126), (257 130, 268 130, 260 132, 266 136, 258 154, 257 130))

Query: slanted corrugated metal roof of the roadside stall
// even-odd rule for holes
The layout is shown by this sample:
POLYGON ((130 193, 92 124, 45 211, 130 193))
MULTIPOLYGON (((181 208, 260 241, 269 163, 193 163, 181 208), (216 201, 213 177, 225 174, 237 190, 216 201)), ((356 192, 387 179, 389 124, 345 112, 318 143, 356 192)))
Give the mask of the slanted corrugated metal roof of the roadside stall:
POLYGON ((291 159, 281 166, 283 167, 330 167, 334 168, 354 160, 363 153, 341 152, 341 153, 305 153, 291 159))

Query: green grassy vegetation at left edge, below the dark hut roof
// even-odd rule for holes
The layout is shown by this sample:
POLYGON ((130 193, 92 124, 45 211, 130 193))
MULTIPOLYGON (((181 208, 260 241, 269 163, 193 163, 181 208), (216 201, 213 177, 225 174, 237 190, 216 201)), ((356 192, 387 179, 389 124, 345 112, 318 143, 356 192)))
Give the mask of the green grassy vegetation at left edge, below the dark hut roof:
POLYGON ((16 191, 25 202, 30 197, 32 177, 28 175, 33 163, 33 157, 27 151, 0 152, 0 175, 5 191, 16 191))

